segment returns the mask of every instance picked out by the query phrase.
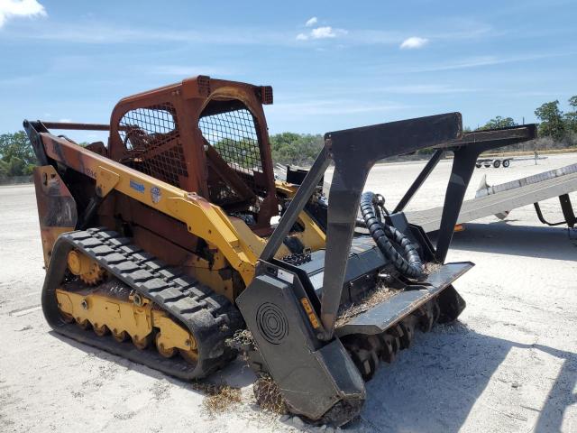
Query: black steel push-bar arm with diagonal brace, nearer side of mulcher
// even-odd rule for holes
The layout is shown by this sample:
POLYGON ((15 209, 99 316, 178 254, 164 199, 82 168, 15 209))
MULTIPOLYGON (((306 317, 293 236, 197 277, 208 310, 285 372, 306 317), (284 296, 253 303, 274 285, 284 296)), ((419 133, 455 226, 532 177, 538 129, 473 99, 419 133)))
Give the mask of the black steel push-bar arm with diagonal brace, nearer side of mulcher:
MULTIPOLYGON (((325 272, 323 281, 325 289, 321 299, 321 321, 325 329, 323 339, 329 340, 333 336, 357 210, 362 189, 372 166, 375 162, 385 158, 447 143, 461 138, 462 135, 460 113, 431 115, 325 134, 325 147, 316 157, 316 161, 280 219, 279 226, 270 236, 260 257, 260 260, 266 262, 273 259, 314 192, 318 181, 324 175, 330 161, 334 161, 334 175, 328 198, 325 254, 325 269, 331 272, 325 272)), ((449 193, 451 182, 453 182, 453 176, 449 181, 447 193, 449 193)), ((447 225, 451 219, 456 221, 460 207, 461 202, 454 216, 452 215, 454 212, 443 215, 443 220, 447 220, 445 221, 447 225)), ((452 235, 453 231, 449 236, 452 235)), ((447 245, 449 243, 450 237, 447 245)))

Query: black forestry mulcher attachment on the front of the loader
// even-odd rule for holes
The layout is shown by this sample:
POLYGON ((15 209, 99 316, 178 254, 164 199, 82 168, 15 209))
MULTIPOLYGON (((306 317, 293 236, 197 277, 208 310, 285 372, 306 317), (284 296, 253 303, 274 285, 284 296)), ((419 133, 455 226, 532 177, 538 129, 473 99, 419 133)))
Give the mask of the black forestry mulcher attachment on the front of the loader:
MULTIPOLYGON (((291 412, 320 423, 349 422, 359 415, 364 381, 381 360, 391 362, 411 345, 417 329, 428 331, 463 311, 452 283, 472 263, 443 263, 453 231, 440 232, 435 250, 402 212, 389 214, 383 198, 362 194, 376 161, 461 135, 458 113, 325 134, 325 148, 237 299, 256 349, 252 367, 272 377, 291 412), (326 249, 275 259, 330 161, 326 249)), ((463 197, 456 199, 444 212, 444 226, 454 226, 463 197)))

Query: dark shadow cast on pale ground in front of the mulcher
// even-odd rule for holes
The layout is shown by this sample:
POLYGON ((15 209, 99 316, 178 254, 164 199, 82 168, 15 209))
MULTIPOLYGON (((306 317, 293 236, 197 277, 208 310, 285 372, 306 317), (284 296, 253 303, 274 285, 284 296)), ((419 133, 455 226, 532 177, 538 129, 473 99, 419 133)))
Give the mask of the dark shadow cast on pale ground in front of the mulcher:
MULTIPOLYGON (((564 410, 577 401, 572 394, 577 383, 576 354, 477 334, 460 322, 436 327, 417 340, 367 384, 362 420, 353 431, 459 431, 514 347, 563 359, 551 392, 545 401, 535 401, 537 407, 544 404, 535 431, 560 431, 564 410)), ((515 408, 500 406, 494 414, 502 419, 503 431, 527 428, 527 419, 519 417, 515 408)))

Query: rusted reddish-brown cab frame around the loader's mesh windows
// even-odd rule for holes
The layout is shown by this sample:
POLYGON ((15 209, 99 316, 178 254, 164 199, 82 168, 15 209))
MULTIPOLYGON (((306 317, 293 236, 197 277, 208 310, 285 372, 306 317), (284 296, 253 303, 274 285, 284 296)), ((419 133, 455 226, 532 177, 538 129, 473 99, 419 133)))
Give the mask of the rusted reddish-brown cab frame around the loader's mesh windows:
MULTIPOLYGON (((205 141, 205 138, 198 127, 198 122, 211 101, 226 100, 241 101, 255 120, 264 175, 261 179, 255 179, 255 182, 260 183, 260 186, 266 190, 258 223, 259 226, 267 226, 270 224, 270 217, 278 214, 268 127, 262 109, 263 104, 272 103, 270 87, 198 76, 184 79, 178 84, 124 97, 114 106, 110 118, 108 156, 114 161, 124 161, 129 156, 129 151, 120 134, 121 120, 126 113, 143 107, 158 107, 166 104, 174 106, 173 115, 179 129, 178 140, 182 143, 184 162, 188 172, 188 177, 181 178, 179 188, 208 198, 207 152, 203 145, 199 145, 205 141), (190 145, 190 143, 194 144, 190 145)), ((234 174, 231 175, 230 170, 226 170, 222 164, 211 165, 215 170, 221 171, 220 174, 224 179, 234 182, 234 174)), ((245 188, 243 185, 237 186, 237 189, 243 188, 245 188)))

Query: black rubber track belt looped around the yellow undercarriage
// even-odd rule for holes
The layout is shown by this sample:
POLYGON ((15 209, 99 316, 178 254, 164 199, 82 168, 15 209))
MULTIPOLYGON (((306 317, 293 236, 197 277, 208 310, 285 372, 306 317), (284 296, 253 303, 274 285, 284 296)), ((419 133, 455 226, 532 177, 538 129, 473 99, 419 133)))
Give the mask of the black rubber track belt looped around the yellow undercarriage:
POLYGON ((205 377, 234 359, 236 352, 225 340, 243 327, 240 311, 224 296, 160 262, 131 244, 129 238, 105 228, 60 235, 42 290, 42 309, 50 326, 61 334, 186 380, 205 377), (53 291, 64 277, 66 256, 72 248, 92 257, 118 280, 152 299, 160 309, 187 327, 197 339, 197 364, 189 364, 179 356, 167 359, 155 349, 138 350, 132 343, 118 343, 112 336, 96 336, 75 324, 64 324, 60 314, 54 314, 58 306, 53 291))

